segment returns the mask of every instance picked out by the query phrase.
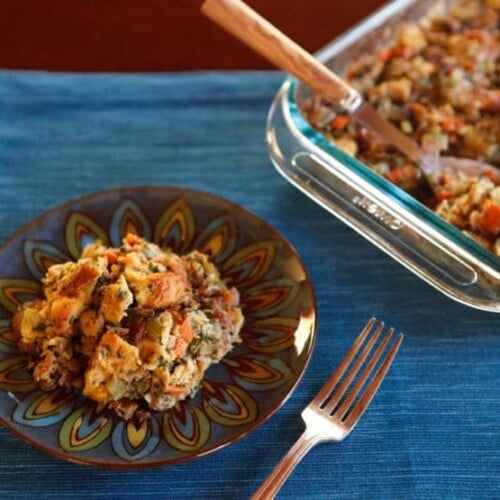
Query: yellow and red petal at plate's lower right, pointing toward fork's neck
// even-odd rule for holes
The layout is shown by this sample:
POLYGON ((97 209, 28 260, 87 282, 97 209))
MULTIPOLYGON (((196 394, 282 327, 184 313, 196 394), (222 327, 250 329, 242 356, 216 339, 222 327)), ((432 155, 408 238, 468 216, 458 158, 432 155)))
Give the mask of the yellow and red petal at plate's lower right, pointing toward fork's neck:
POLYGON ((252 396, 236 385, 202 383, 203 408, 209 418, 228 427, 253 422, 258 406, 252 396))

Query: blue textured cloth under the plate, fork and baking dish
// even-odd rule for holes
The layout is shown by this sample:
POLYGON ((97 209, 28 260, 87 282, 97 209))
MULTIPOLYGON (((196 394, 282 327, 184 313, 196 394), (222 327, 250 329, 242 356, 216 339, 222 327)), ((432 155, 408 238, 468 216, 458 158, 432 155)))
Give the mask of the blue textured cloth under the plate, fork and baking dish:
POLYGON ((239 442, 141 471, 74 465, 0 426, 1 498, 248 498, 302 432, 301 409, 372 315, 406 334, 354 432, 314 448, 279 498, 493 498, 500 492, 500 316, 460 305, 291 187, 265 147, 283 75, 0 72, 0 242, 75 196, 175 185, 228 198, 295 246, 319 328, 286 404, 239 442))

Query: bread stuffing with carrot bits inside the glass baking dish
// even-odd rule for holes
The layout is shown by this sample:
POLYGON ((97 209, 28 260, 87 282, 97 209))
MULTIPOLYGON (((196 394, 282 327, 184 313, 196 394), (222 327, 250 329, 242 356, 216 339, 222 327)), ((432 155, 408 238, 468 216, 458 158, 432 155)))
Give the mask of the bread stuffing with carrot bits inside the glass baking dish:
MULTIPOLYGON (((458 0, 406 23, 377 53, 354 61, 344 77, 387 119, 442 155, 500 167, 500 2, 458 0)), ((428 179, 378 134, 312 96, 303 109, 337 147, 425 203, 500 255, 497 179, 452 172, 428 179)))

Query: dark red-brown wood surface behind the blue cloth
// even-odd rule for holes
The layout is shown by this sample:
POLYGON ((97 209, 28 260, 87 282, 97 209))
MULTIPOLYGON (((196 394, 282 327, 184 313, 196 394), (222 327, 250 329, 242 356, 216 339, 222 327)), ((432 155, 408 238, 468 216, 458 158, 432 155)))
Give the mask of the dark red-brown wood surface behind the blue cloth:
MULTIPOLYGON (((383 0, 248 0, 316 51, 383 0)), ((0 0, 0 67, 63 71, 268 69, 201 0, 0 0)))

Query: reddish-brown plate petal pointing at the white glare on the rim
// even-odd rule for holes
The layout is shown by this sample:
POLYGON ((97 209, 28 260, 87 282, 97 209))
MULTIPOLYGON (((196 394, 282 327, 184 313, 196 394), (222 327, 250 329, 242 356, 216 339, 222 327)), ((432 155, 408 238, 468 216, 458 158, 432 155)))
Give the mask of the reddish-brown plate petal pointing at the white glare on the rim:
POLYGON ((298 326, 297 318, 273 316, 247 323, 240 335, 253 351, 273 354, 294 345, 298 326))

